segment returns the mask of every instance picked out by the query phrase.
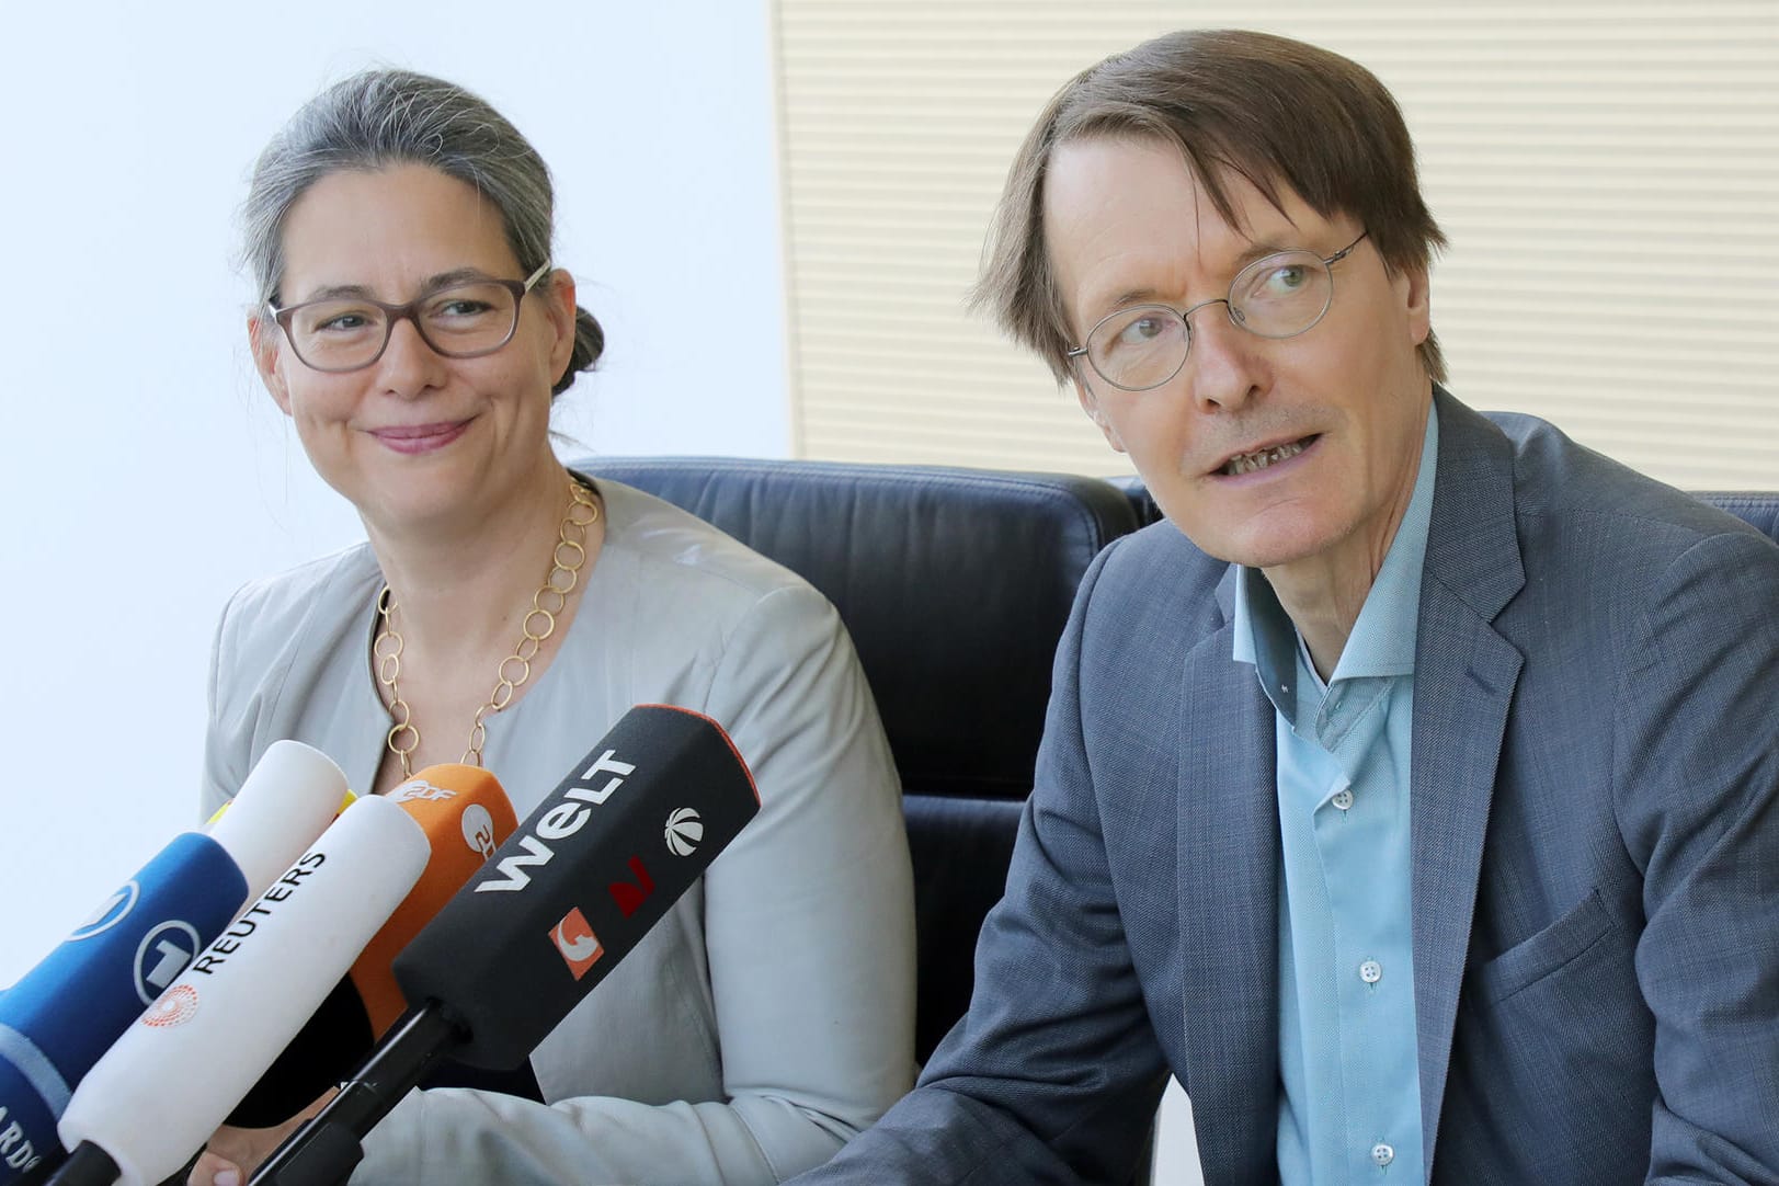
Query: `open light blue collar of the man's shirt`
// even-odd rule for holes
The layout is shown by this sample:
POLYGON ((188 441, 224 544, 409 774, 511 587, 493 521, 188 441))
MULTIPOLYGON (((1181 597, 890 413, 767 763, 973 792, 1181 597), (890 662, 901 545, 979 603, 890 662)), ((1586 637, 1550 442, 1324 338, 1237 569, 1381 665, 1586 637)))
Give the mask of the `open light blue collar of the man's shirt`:
MULTIPOLYGON (((1439 409, 1427 407, 1421 464, 1414 493, 1389 541, 1384 564, 1372 581, 1359 621, 1334 665, 1334 679, 1409 676, 1414 672, 1414 631, 1421 615, 1421 569, 1434 507, 1434 469, 1439 459, 1439 409)), ((1297 628, 1260 569, 1236 569, 1235 660, 1252 663, 1274 706, 1295 718, 1297 628)))

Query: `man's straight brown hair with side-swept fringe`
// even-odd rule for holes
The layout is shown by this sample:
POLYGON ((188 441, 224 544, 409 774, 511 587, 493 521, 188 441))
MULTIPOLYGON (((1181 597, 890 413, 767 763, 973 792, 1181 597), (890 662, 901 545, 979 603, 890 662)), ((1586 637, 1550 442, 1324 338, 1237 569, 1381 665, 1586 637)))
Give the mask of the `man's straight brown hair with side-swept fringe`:
MULTIPOLYGON (((1089 66, 1050 100, 1007 172, 977 281, 1016 341, 1057 382, 1071 377, 1069 329, 1044 247, 1044 174, 1059 144, 1139 137, 1178 144, 1217 213, 1238 226, 1224 178, 1274 206, 1281 187, 1329 219, 1352 215, 1391 270, 1425 270, 1445 235, 1421 201, 1402 110, 1372 71, 1329 50, 1245 30, 1185 30, 1089 66)), ((1439 341, 1420 347, 1445 379, 1439 341)))

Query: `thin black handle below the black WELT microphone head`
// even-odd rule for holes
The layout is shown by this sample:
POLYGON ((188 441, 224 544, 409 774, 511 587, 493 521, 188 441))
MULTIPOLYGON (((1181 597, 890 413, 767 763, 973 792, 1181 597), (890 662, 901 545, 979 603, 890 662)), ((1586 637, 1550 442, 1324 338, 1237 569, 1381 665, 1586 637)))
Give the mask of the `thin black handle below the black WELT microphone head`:
POLYGON ((361 1145, 372 1126, 425 1076, 439 1051, 463 1040, 463 1030, 429 1003, 409 1008, 390 1028, 340 1094, 272 1150, 247 1186, 336 1186, 365 1159, 361 1145))

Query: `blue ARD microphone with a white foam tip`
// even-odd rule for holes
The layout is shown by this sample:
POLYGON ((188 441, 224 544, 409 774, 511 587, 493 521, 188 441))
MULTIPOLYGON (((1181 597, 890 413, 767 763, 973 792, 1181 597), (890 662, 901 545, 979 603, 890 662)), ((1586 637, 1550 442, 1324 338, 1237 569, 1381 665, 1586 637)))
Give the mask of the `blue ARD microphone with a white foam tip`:
POLYGON ((60 1156, 76 1083, 235 912, 320 836, 345 775, 276 741, 210 834, 183 832, 0 996, 0 1186, 60 1156))

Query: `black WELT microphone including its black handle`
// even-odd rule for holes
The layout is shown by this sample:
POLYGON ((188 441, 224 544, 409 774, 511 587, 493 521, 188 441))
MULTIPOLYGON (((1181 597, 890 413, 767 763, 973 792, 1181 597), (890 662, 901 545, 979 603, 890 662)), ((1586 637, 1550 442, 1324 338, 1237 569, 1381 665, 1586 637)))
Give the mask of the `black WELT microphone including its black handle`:
POLYGON ((717 722, 664 704, 624 713, 395 958, 416 1006, 253 1184, 343 1181, 438 1054, 518 1067, 758 811, 717 722))

